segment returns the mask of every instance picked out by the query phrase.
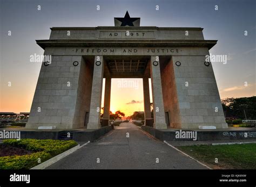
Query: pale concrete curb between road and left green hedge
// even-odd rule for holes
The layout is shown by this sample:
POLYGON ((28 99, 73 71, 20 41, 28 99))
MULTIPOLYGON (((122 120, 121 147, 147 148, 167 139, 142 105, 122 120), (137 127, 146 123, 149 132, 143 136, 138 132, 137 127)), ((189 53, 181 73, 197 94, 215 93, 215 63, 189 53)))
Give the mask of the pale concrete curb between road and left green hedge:
POLYGON ((90 143, 90 141, 84 143, 82 146, 77 145, 75 147, 72 147, 71 149, 66 150, 65 152, 60 153, 59 155, 57 155, 55 157, 52 157, 51 159, 46 160, 45 162, 43 162, 41 164, 38 164, 37 166, 35 166, 33 168, 30 168, 30 169, 45 169, 45 168, 51 166, 51 164, 58 162, 60 159, 63 159, 64 157, 66 157, 66 156, 70 155, 71 153, 75 152, 76 150, 84 147, 88 143, 90 143))

